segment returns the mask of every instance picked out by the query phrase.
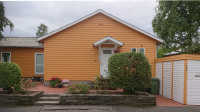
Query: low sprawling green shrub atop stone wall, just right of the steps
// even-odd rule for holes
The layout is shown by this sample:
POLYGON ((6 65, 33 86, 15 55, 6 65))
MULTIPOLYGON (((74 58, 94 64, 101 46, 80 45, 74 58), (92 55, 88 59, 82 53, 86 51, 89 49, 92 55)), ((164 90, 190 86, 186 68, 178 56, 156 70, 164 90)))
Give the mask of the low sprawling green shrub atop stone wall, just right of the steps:
POLYGON ((70 94, 87 94, 89 93, 90 86, 87 84, 72 84, 69 86, 67 93, 70 94))

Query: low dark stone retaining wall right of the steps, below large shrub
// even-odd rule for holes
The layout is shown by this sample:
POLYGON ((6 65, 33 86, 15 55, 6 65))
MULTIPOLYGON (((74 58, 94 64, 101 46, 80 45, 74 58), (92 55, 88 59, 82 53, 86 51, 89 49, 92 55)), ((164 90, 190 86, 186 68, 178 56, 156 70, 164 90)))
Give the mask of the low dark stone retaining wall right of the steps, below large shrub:
POLYGON ((156 98, 145 92, 137 95, 120 94, 61 94, 62 105, 126 105, 156 106, 156 98))

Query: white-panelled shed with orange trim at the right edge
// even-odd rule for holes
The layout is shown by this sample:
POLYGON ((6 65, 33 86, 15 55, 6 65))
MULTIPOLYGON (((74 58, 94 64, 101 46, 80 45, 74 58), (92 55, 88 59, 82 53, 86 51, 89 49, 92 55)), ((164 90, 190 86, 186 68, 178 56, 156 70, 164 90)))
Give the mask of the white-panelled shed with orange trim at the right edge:
POLYGON ((200 55, 156 59, 159 94, 187 105, 200 105, 200 55))

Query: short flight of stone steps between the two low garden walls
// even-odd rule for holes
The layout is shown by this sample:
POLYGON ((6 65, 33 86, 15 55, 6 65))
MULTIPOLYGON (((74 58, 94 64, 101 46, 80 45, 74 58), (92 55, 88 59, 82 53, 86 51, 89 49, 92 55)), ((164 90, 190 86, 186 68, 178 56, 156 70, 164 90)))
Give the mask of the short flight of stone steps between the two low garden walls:
POLYGON ((59 93, 44 93, 35 105, 58 105, 60 100, 59 93))

